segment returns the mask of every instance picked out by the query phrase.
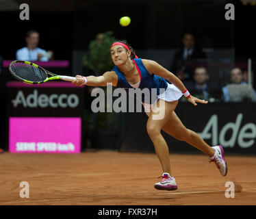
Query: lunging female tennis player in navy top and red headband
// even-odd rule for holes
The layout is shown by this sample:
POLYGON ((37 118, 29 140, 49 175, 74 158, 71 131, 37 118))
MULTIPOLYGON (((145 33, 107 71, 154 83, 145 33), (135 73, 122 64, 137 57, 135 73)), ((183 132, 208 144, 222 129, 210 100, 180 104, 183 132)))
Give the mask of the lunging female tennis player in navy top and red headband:
POLYGON ((110 54, 115 65, 112 70, 99 77, 76 75, 77 80, 73 83, 77 86, 83 84, 87 86, 107 86, 107 83, 112 83, 113 86, 119 88, 157 88, 157 101, 152 105, 142 103, 144 107, 151 107, 149 109, 151 111, 148 113, 149 119, 146 123, 146 130, 154 144, 155 152, 163 170, 162 179, 155 183, 155 188, 157 190, 177 190, 175 178, 170 171, 168 146, 160 132, 161 130, 177 140, 188 142, 188 144, 205 153, 209 156, 209 162, 216 164, 220 174, 222 176, 227 175, 227 163, 225 162, 222 146, 209 146, 197 133, 186 129, 175 114, 175 108, 182 95, 195 106, 197 103, 205 104, 207 101, 192 96, 178 77, 157 64, 157 62, 138 58, 126 40, 114 42, 110 48, 110 54), (172 84, 168 83, 166 79, 171 81, 172 84), (159 93, 160 88, 164 88, 164 94, 159 93), (156 107, 158 108, 154 109, 156 107), (164 118, 153 119, 154 114, 159 114, 157 110, 164 112, 164 118))

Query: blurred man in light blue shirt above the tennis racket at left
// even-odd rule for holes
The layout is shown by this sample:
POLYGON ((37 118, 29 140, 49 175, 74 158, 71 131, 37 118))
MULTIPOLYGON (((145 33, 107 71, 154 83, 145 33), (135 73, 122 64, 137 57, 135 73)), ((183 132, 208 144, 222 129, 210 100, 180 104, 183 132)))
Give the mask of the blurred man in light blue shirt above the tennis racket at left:
POLYGON ((16 51, 16 60, 24 61, 45 61, 53 59, 53 51, 45 51, 44 49, 38 48, 39 33, 35 30, 27 31, 26 42, 27 47, 18 49, 16 51))

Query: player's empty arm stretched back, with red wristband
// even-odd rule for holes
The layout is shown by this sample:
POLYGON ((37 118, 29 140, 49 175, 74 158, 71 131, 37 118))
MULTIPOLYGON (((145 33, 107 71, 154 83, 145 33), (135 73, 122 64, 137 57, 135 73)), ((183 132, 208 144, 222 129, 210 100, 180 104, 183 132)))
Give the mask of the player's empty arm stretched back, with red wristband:
MULTIPOLYGON (((183 94, 188 93, 188 90, 187 88, 185 88, 182 81, 176 75, 172 74, 169 70, 167 70, 166 68, 159 65, 157 62, 153 60, 142 60, 142 62, 146 67, 146 70, 149 71, 149 73, 158 75, 159 77, 163 77, 164 79, 167 79, 168 81, 172 82, 177 88, 179 88, 179 90, 181 90, 181 92, 183 92, 183 94)), ((188 101, 190 101, 190 103, 192 103, 193 105, 197 105, 196 103, 208 103, 208 101, 198 99, 195 96, 192 96, 191 94, 189 94, 186 97, 188 101)))

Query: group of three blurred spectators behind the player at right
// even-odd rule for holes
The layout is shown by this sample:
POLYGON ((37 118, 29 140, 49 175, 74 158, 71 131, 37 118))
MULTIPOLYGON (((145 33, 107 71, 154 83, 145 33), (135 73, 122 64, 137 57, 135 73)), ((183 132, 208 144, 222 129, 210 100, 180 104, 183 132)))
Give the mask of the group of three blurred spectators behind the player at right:
MULTIPOLYGON (((229 71, 229 81, 225 86, 211 80, 207 70, 206 55, 196 47, 193 34, 186 33, 182 38, 182 47, 177 49, 170 66, 170 71, 177 75, 190 93, 209 102, 256 102, 256 92, 245 80, 244 71, 234 66, 229 71), (197 64, 204 63, 204 65, 197 64), (191 66, 193 63, 195 66, 191 66)), ((186 101, 185 98, 181 101, 186 101)))

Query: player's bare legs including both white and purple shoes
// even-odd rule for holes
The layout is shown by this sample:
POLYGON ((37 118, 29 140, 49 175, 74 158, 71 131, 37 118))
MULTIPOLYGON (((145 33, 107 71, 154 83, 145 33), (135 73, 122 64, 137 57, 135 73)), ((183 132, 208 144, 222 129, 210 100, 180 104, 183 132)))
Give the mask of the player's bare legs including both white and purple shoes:
POLYGON ((216 163, 216 166, 220 170, 220 174, 223 176, 227 175, 227 163, 224 159, 222 147, 215 146, 212 148, 197 133, 185 128, 183 123, 181 123, 181 120, 179 120, 179 117, 174 112, 177 107, 177 103, 178 101, 166 102, 159 99, 157 104, 153 106, 153 110, 149 115, 149 120, 146 123, 146 130, 148 131, 149 137, 155 146, 155 152, 162 164, 164 172, 162 180, 154 185, 157 190, 177 190, 175 178, 172 177, 170 170, 168 145, 161 134, 161 129, 177 140, 188 142, 188 144, 191 144, 208 155, 210 157, 210 161, 216 163), (154 119, 153 116, 159 114, 159 112, 157 113, 156 111, 156 107, 158 107, 160 111, 164 112, 164 118, 158 120, 154 119))

